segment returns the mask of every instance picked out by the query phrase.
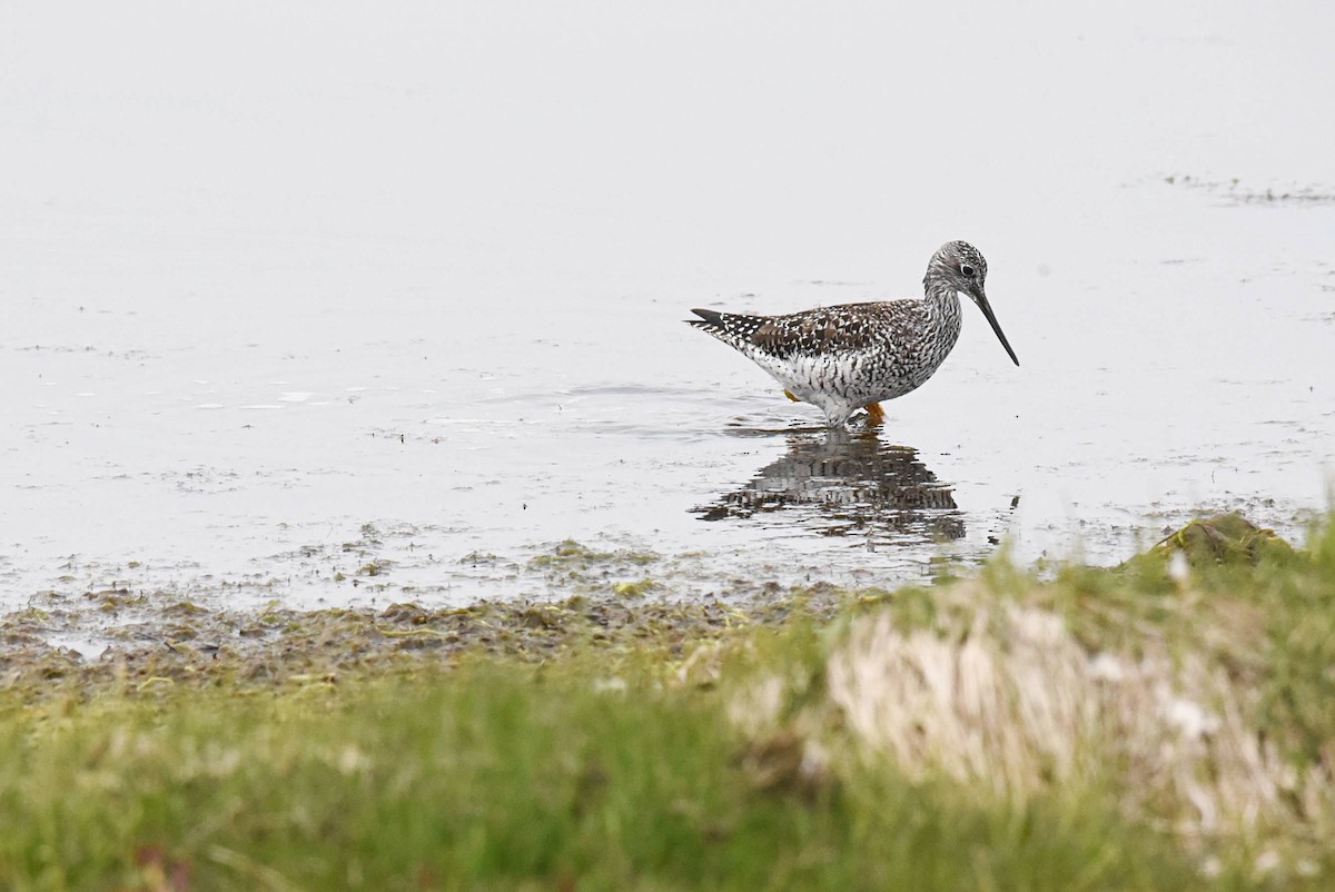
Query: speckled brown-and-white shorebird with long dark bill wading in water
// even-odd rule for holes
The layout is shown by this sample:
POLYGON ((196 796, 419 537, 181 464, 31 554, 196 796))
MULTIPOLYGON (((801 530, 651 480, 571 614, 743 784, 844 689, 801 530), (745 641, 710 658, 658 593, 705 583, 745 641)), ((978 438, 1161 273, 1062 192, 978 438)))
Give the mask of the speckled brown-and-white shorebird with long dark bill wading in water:
POLYGON ((768 371, 793 402, 825 413, 842 426, 858 409, 878 425, 882 399, 921 387, 960 337, 960 292, 992 324, 1015 365, 1020 361, 1001 334, 983 284, 988 262, 968 242, 947 242, 926 264, 922 298, 844 303, 781 316, 692 310, 704 328, 768 371))

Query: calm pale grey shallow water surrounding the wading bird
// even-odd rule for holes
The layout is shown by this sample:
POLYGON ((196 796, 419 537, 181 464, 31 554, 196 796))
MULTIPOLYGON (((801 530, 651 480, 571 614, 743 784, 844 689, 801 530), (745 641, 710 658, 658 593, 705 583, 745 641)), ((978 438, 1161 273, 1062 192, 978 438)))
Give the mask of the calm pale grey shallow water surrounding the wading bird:
POLYGON ((1328 505, 1310 20, 134 9, 175 41, 0 29, 0 606, 546 597, 567 538, 585 589, 890 585, 1328 505), (906 296, 952 238, 1021 366, 965 306, 880 431, 681 323, 906 296))

